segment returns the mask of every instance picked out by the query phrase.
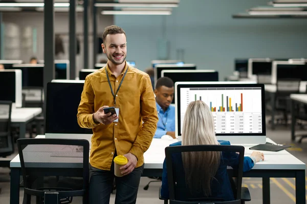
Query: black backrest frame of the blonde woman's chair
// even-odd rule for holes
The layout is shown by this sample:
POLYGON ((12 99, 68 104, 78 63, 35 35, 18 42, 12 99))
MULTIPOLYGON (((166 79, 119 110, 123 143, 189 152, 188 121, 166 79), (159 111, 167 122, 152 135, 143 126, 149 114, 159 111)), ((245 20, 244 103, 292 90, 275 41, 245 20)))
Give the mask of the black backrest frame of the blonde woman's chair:
POLYGON ((174 177, 175 168, 173 168, 172 154, 181 153, 181 152, 200 152, 200 151, 237 152, 239 154, 238 168, 234 169, 234 175, 237 176, 236 192, 234 198, 240 199, 241 188, 242 188, 243 165, 244 165, 244 147, 234 146, 234 145, 231 146, 230 145, 188 145, 188 146, 166 147, 165 156, 166 156, 166 168, 167 168, 167 177, 168 177, 169 199, 176 200, 175 190, 174 190, 176 186, 175 177, 174 177))

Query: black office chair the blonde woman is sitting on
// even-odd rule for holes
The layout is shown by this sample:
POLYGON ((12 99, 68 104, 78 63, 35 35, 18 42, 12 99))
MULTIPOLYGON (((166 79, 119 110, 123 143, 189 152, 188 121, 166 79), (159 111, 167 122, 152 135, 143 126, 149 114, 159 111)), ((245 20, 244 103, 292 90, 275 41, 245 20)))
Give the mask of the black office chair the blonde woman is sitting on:
MULTIPOLYGON (((242 204, 245 201, 250 201, 250 194, 248 188, 242 187, 242 176, 243 176, 243 165, 244 165, 244 147, 243 146, 230 146, 230 145, 189 145, 189 146, 172 146, 165 148, 166 155, 166 167, 167 167, 167 178, 168 178, 168 191, 170 203, 183 204, 183 203, 223 203, 223 204, 242 204), (176 199, 179 195, 177 187, 176 173, 174 173, 176 167, 173 165, 172 154, 182 153, 182 152, 198 152, 198 151, 218 151, 218 152, 238 152, 239 153, 239 164, 237 169, 232 169, 233 176, 236 177, 235 189, 233 189, 234 198, 233 201, 225 201, 223 198, 212 198, 212 197, 202 197, 202 198, 187 198, 187 200, 181 201, 176 199), (244 197, 243 197, 244 196, 244 197)), ((184 175, 182 175, 184 176, 184 175)), ((182 192, 182 191, 181 191, 182 192)), ((188 192, 186 194, 188 196, 188 192)), ((161 194, 159 193, 159 198, 161 194)), ((164 203, 167 200, 164 199, 164 203)))

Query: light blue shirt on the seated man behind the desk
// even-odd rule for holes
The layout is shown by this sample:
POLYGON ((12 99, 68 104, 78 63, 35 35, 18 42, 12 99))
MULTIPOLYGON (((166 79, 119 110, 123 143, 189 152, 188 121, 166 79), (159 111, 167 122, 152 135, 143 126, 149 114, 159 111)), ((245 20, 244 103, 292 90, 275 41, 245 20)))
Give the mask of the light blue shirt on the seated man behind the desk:
POLYGON ((161 138, 167 131, 175 131, 175 107, 170 105, 164 112, 157 102, 156 105, 159 121, 156 134, 153 138, 161 138))

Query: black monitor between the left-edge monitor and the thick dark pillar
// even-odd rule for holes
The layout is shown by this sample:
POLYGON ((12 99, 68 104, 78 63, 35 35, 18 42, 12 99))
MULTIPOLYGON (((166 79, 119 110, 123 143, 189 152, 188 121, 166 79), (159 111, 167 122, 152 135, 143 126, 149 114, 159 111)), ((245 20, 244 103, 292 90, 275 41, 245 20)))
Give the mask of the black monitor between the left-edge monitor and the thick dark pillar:
POLYGON ((13 64, 13 68, 22 72, 23 88, 43 87, 43 64, 13 64))

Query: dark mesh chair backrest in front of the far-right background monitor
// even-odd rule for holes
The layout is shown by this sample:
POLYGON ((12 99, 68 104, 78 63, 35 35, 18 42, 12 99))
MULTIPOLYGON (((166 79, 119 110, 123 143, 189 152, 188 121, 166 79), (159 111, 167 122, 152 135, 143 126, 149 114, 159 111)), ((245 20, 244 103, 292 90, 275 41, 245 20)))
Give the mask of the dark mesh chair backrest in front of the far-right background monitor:
POLYGON ((277 79, 276 92, 289 93, 289 94, 299 93, 300 82, 301 79, 296 79, 296 78, 277 79))

